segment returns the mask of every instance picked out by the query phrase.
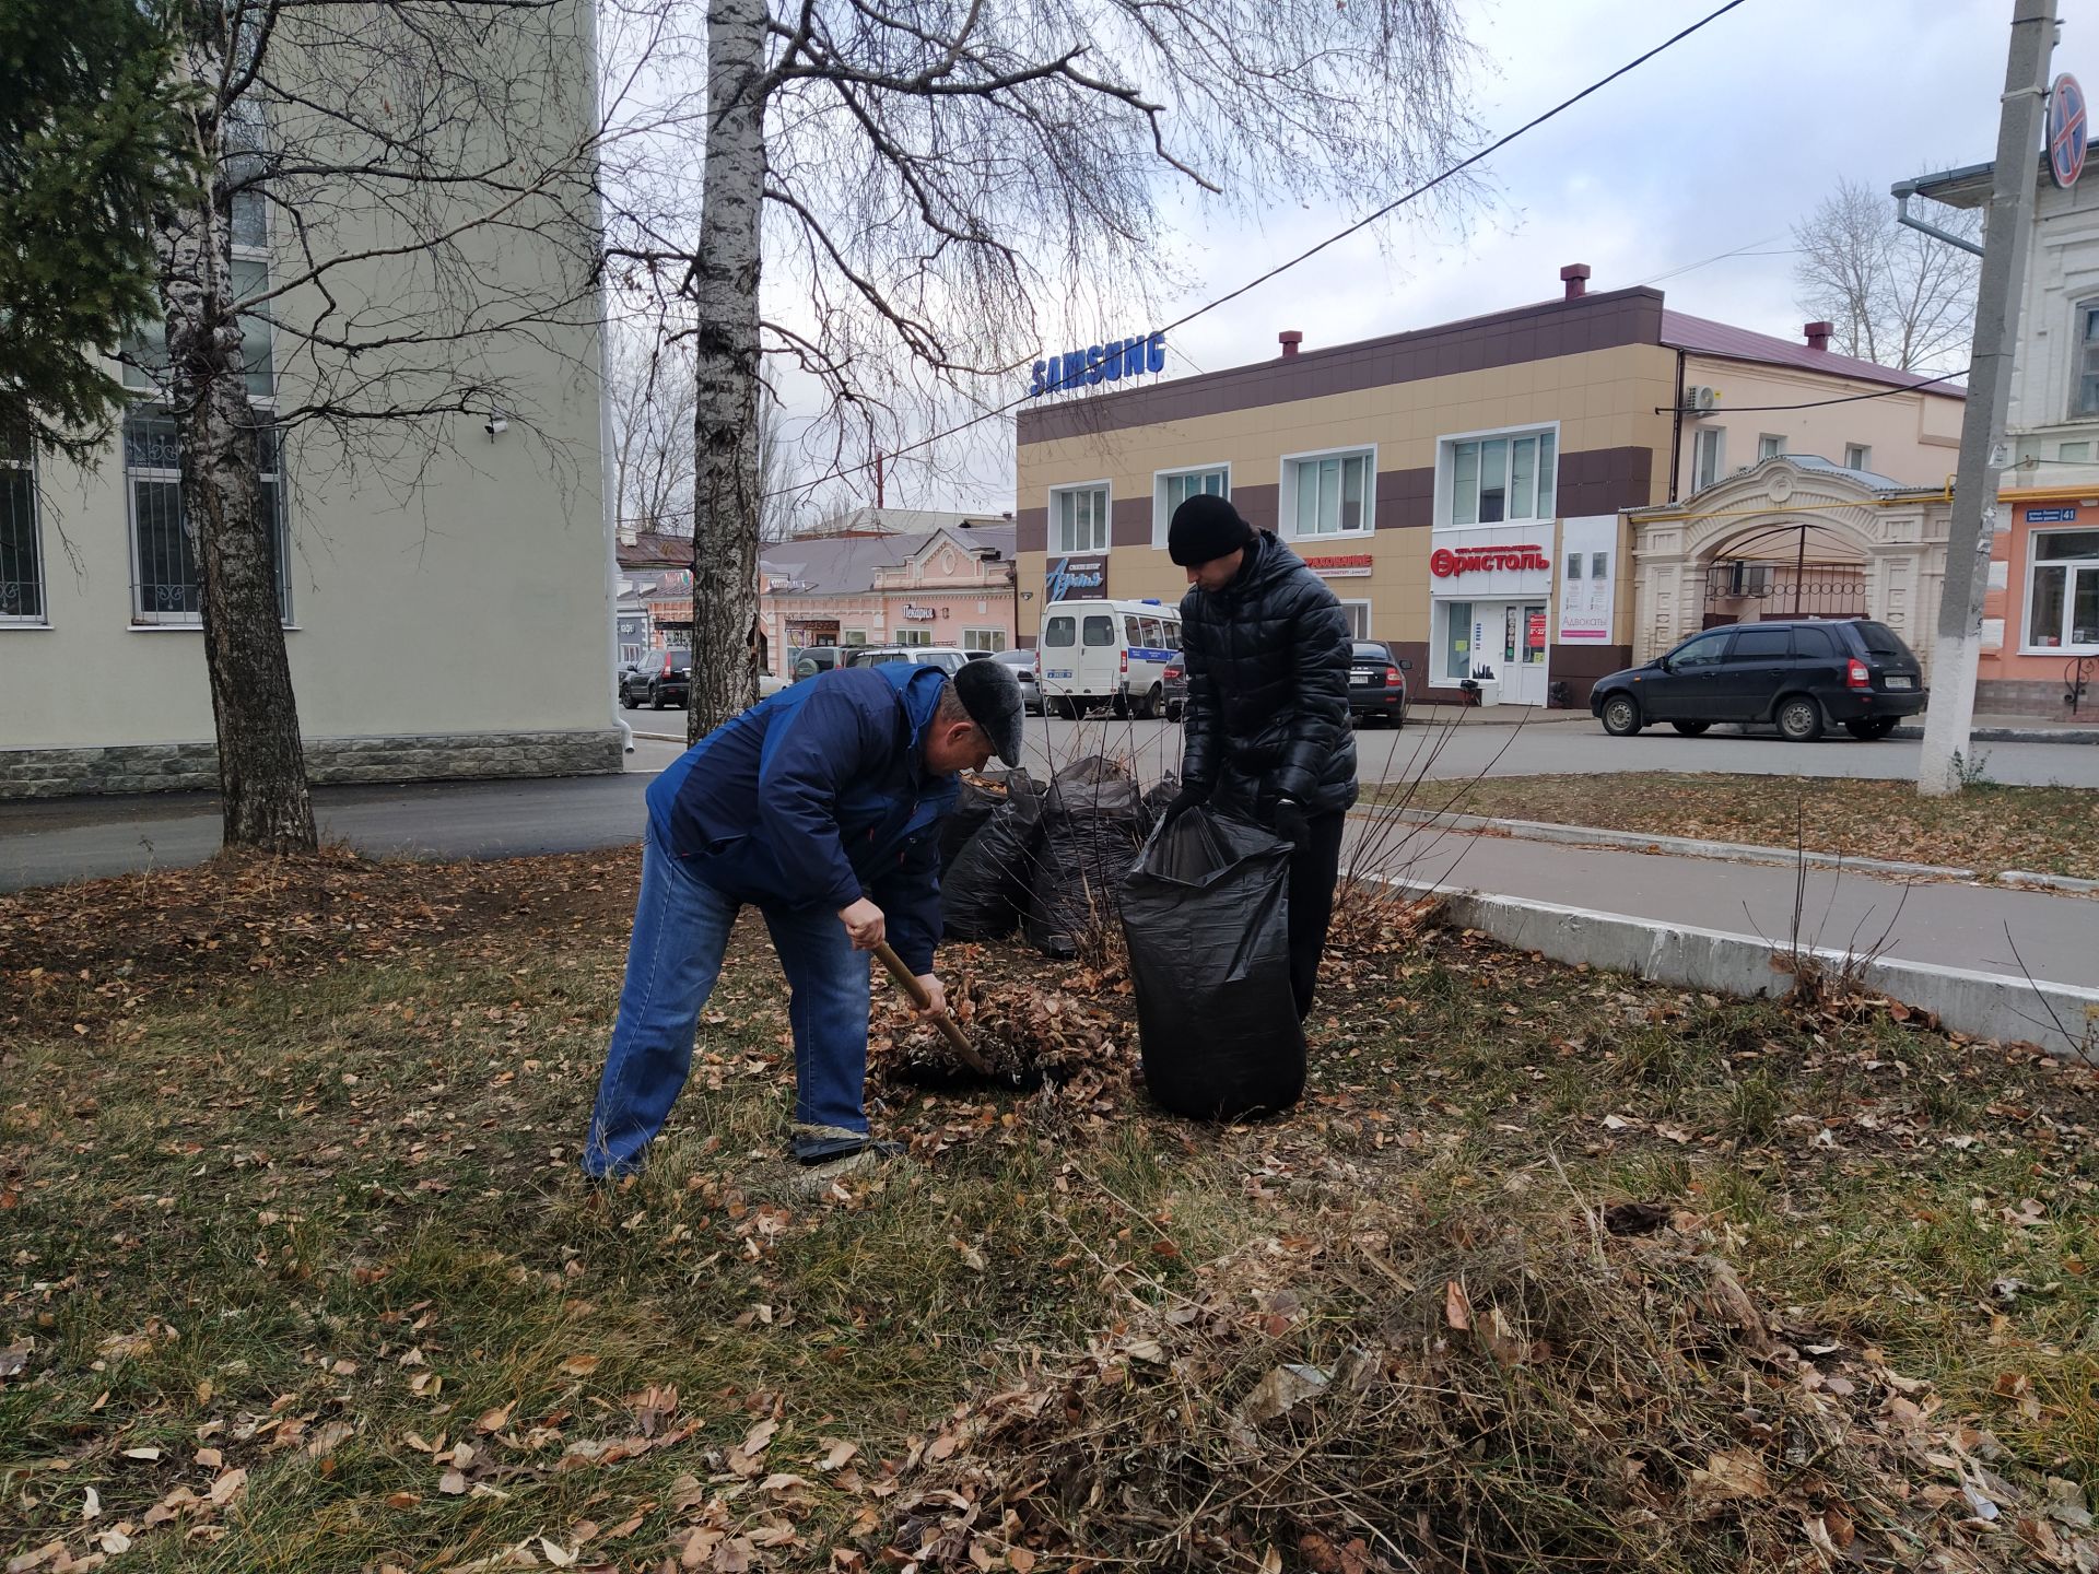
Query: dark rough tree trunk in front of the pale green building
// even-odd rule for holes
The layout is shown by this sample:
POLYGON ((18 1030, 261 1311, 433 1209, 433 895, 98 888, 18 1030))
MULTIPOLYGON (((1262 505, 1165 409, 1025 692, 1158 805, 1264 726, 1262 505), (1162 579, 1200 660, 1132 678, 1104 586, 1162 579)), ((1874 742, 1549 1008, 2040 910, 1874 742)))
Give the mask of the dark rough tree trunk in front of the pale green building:
MULTIPOLYGON (((185 63, 202 84, 216 80, 216 50, 202 40, 189 40, 185 63)), ((204 145, 214 147, 218 115, 202 111, 195 124, 204 145)), ((153 250, 183 447, 183 531, 202 581, 225 846, 313 852, 313 800, 277 600, 275 520, 262 508, 222 206, 206 195, 162 212, 153 250)))

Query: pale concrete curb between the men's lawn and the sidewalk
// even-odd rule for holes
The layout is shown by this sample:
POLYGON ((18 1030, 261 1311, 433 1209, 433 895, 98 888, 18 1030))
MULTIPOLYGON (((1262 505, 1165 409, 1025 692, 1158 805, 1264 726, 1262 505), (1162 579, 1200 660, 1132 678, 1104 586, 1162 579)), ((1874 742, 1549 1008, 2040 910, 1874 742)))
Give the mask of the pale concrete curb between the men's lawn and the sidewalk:
MULTIPOLYGON (((1450 921, 1490 934, 1507 946, 1553 961, 1635 974, 1658 984, 1721 995, 1786 995, 1799 967, 1793 953, 1769 940, 1721 930, 1599 913, 1587 907, 1490 896, 1463 886, 1385 879, 1390 890, 1440 898, 1450 921)), ((1847 972, 1847 957, 1828 946, 1803 946, 1801 961, 1847 972)), ((1931 1012, 1954 1033, 1977 1039, 2019 1039, 2053 1056, 2099 1064, 2099 988, 2028 982, 2005 974, 1937 967, 1881 957, 1849 967, 1860 988, 1931 1012)))

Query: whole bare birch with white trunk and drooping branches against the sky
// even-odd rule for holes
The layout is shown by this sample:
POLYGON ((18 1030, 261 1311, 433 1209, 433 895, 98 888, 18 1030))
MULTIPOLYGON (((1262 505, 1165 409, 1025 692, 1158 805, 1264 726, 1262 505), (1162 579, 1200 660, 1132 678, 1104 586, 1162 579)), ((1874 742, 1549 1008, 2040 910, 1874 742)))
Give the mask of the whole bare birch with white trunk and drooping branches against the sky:
MULTIPOLYGON (((699 0, 619 4, 659 42, 680 19, 699 38, 699 0)), ((842 451, 921 439, 913 395, 995 407, 991 380, 1012 392, 1045 327, 1131 332, 1123 313, 1175 277, 1180 193, 1358 201, 1450 162, 1469 130, 1455 13, 707 0, 699 233, 659 185, 630 193, 613 248, 630 288, 697 321, 691 735, 756 695, 762 355, 823 386, 842 451)))

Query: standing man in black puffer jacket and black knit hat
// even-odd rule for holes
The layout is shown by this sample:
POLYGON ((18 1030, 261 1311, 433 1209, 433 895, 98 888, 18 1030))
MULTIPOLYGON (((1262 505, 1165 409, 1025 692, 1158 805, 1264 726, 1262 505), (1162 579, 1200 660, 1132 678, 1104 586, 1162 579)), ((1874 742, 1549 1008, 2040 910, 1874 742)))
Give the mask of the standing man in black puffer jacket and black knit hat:
POLYGON ((1301 1020, 1327 949, 1341 825, 1356 802, 1348 615, 1303 558, 1224 497, 1203 493, 1175 508, 1167 554, 1190 586, 1184 785, 1167 818, 1213 802, 1295 848, 1291 986, 1301 1020))

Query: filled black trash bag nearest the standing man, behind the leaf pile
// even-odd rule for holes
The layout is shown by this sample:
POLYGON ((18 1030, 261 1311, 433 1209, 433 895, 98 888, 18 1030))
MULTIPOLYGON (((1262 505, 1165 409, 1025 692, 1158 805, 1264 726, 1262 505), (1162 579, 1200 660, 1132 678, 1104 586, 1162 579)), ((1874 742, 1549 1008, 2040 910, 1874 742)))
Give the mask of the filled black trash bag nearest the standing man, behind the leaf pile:
POLYGON ((1112 926, 1117 890, 1142 844, 1144 800, 1129 770, 1096 753, 1056 772, 1043 795, 1029 944, 1066 959, 1087 934, 1112 926))

